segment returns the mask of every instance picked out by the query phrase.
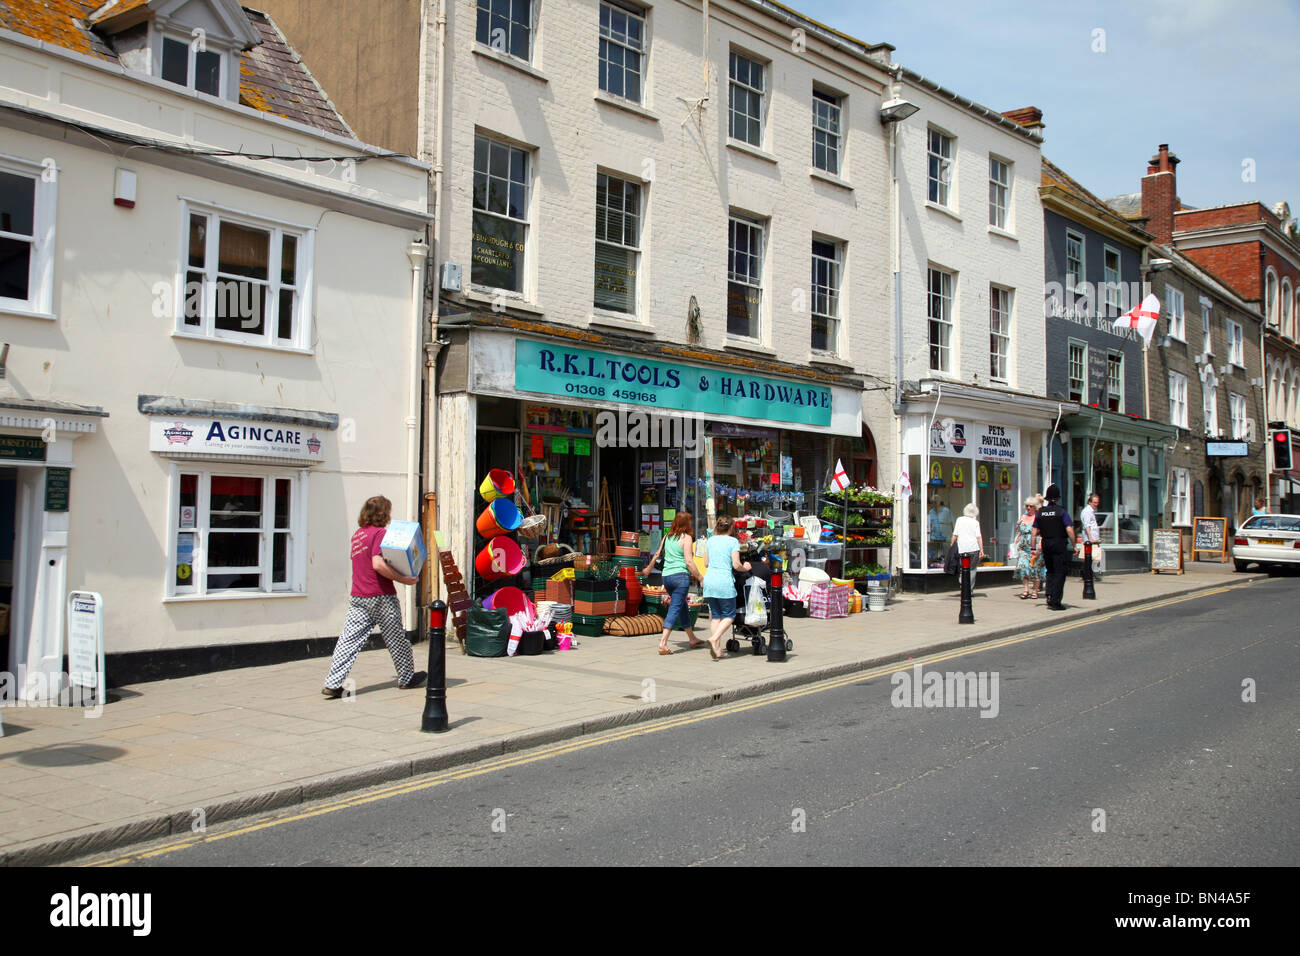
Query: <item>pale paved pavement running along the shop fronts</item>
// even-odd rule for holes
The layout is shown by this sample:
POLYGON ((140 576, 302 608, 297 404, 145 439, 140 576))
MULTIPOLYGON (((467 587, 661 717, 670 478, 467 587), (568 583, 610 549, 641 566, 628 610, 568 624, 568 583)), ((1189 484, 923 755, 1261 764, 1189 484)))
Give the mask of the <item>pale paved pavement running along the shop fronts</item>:
MULTIPOLYGON (((988 578, 993 575, 989 574, 988 578)), ((4 706, 0 721, 0 865, 47 865, 202 823, 363 790, 506 752, 771 693, 937 650, 1088 619, 1266 578, 1232 566, 1183 575, 1108 575, 1096 601, 1066 583, 1067 610, 983 581, 975 623, 957 623, 957 593, 905 594, 883 611, 789 619, 784 663, 742 644, 655 653, 658 635, 577 637, 568 652, 472 658, 447 650, 446 734, 424 734, 422 691, 396 687, 387 652, 363 653, 356 695, 320 693, 328 658, 292 661, 114 689, 98 717, 74 708, 4 706)), ((706 635, 702 620, 697 635, 706 635)), ((416 646, 422 661, 428 645, 416 646)), ((417 665, 422 666, 422 665, 417 665)))

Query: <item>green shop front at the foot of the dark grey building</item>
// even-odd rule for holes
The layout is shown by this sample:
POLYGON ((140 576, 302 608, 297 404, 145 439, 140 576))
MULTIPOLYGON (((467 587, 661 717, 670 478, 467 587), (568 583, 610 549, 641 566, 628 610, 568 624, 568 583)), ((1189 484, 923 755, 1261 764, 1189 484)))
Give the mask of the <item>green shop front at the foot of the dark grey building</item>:
POLYGON ((1075 520, 1088 496, 1100 496, 1097 525, 1106 571, 1149 570, 1150 532, 1167 527, 1166 447, 1176 436, 1173 425, 1089 406, 1062 418, 1049 445, 1052 480, 1075 520))

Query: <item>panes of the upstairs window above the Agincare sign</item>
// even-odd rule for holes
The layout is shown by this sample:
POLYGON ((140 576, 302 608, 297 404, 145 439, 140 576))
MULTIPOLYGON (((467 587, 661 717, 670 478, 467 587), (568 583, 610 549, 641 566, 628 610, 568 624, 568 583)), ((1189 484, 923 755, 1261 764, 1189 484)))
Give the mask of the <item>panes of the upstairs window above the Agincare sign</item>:
POLYGON ((311 338, 312 233, 182 203, 183 300, 177 332, 269 347, 311 338))

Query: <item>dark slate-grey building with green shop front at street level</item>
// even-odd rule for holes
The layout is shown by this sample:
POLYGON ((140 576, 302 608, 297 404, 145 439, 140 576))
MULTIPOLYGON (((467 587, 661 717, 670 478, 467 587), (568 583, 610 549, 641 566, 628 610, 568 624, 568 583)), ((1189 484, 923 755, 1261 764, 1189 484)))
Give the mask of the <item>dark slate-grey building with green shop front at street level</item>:
POLYGON ((1114 328, 1143 299, 1152 237, 1118 216, 1056 164, 1043 160, 1048 394, 1076 411, 1049 445, 1050 479, 1078 518, 1101 496, 1105 567, 1143 568, 1150 529, 1162 527, 1166 446, 1176 429, 1149 420, 1143 341, 1114 328))

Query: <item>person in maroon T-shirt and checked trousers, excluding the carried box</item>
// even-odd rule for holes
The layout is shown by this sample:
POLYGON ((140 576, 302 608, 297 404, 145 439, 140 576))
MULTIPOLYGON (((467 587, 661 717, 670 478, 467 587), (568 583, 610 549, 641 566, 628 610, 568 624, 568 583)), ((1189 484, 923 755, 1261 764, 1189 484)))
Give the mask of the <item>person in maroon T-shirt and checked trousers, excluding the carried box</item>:
POLYGON ((343 680, 376 623, 398 671, 398 687, 421 687, 428 676, 425 671, 415 670, 411 641, 402 627, 402 606, 398 604, 396 588, 393 587, 393 581, 412 585, 419 578, 398 574, 381 550, 384 531, 391 516, 393 502, 380 494, 361 506, 361 515, 356 519, 360 527, 352 535, 352 600, 343 633, 334 645, 329 676, 321 688, 326 697, 343 696, 343 680))

